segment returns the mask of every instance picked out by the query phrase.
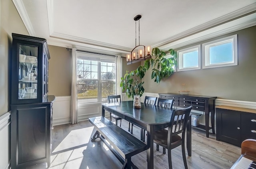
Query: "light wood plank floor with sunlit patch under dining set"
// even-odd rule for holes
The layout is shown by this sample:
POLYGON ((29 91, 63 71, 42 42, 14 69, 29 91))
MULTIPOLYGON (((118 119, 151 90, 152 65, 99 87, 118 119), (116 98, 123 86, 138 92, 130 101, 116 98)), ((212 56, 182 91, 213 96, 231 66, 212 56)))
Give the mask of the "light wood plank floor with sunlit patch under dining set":
MULTIPOLYGON (((122 128, 128 128, 125 120, 122 128)), ((90 141, 94 132, 88 121, 54 126, 50 169, 121 169, 122 164, 102 141, 90 141)), ((140 128, 136 126, 134 136, 140 138, 140 128)), ((187 156, 188 168, 230 169, 240 152, 240 147, 216 141, 213 134, 206 138, 204 131, 192 129, 192 157, 187 156)), ((132 161, 139 169, 146 169, 146 151, 132 157, 132 161)), ((172 167, 184 169, 181 146, 172 150, 172 167)), ((162 154, 161 149, 156 151, 156 147, 154 169, 168 169, 167 154, 162 154)))

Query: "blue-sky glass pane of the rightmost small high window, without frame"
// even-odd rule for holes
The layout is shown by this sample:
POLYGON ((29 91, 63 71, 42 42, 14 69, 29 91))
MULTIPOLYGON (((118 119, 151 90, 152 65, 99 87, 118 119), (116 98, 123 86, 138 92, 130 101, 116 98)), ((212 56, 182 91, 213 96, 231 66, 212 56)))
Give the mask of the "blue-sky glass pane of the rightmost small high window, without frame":
POLYGON ((225 43, 210 47, 210 64, 233 61, 233 43, 225 43))

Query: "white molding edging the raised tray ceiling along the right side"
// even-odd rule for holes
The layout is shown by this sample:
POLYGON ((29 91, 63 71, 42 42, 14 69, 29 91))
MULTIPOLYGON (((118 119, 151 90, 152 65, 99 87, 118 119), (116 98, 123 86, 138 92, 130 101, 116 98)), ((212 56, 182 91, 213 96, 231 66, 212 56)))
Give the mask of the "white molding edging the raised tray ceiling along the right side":
POLYGON ((221 16, 219 18, 216 18, 214 20, 211 20, 210 22, 206 22, 205 24, 202 24, 200 26, 197 26, 195 28, 189 29, 187 31, 183 31, 182 33, 179 33, 177 35, 174 35, 172 37, 169 37, 167 39, 164 39, 162 41, 159 41, 157 43, 152 44, 153 47, 162 47, 164 45, 167 45, 169 43, 172 43, 174 41, 178 41, 180 39, 189 37, 191 35, 195 35, 197 33, 200 33, 202 31, 206 31, 208 29, 214 28, 216 26, 220 26, 222 24, 231 22, 233 20, 242 18, 244 16, 250 15, 256 13, 256 3, 253 3, 251 5, 248 5, 244 8, 241 8, 239 10, 236 10, 234 12, 231 12, 225 16, 221 16))

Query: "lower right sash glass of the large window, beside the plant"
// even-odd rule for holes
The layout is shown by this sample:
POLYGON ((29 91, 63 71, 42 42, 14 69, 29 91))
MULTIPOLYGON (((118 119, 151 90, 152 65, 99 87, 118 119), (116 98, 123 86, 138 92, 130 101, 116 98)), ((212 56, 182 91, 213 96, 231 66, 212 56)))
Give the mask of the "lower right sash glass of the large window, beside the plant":
POLYGON ((114 95, 116 93, 115 81, 102 81, 102 101, 106 100, 108 95, 114 95))

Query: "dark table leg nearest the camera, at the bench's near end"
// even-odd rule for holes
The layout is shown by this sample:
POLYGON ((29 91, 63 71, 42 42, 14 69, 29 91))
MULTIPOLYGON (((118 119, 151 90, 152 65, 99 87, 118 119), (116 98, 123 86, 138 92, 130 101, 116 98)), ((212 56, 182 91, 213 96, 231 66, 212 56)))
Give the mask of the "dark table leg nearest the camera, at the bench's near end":
POLYGON ((153 126, 147 127, 147 162, 148 169, 154 169, 154 128, 153 126))

